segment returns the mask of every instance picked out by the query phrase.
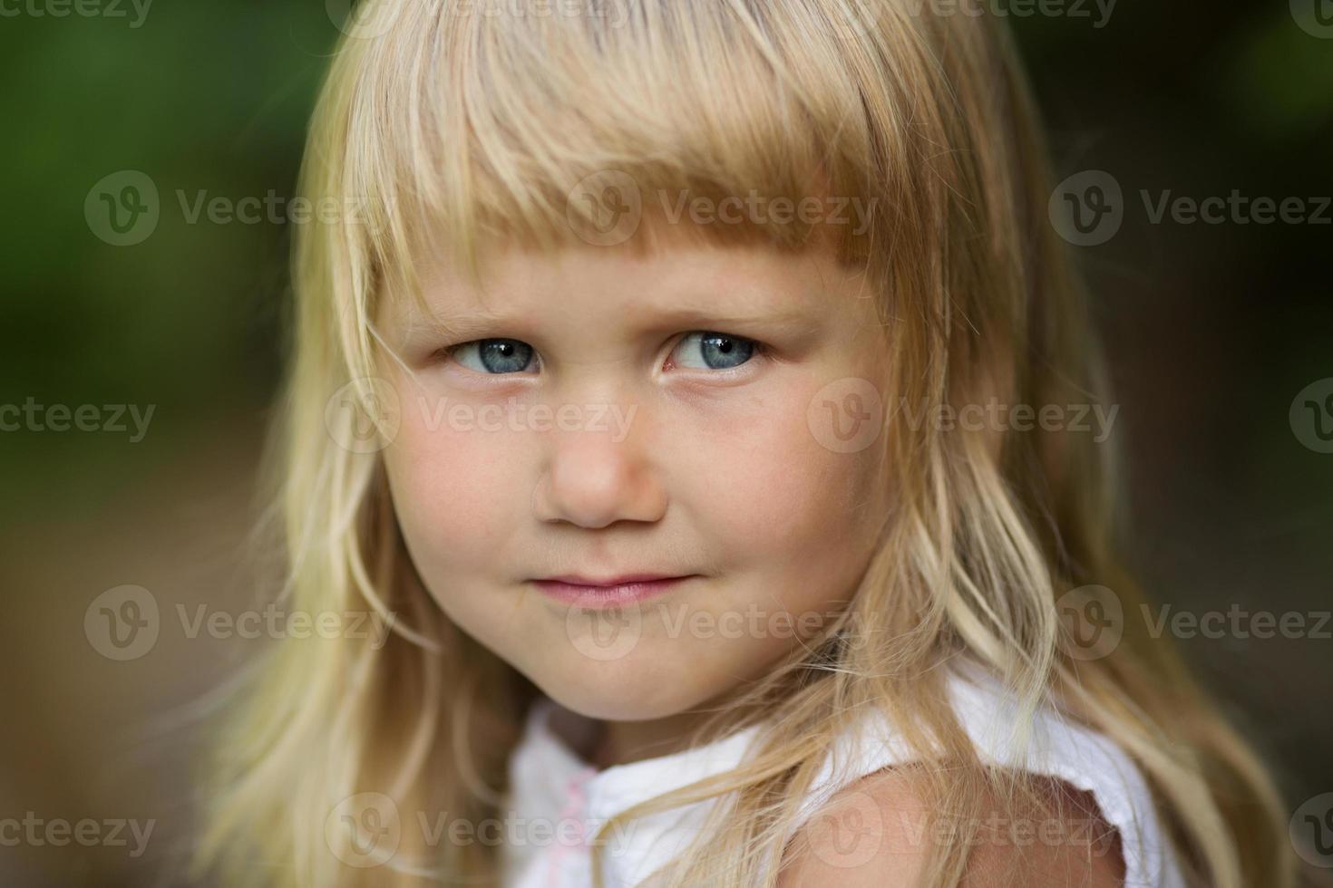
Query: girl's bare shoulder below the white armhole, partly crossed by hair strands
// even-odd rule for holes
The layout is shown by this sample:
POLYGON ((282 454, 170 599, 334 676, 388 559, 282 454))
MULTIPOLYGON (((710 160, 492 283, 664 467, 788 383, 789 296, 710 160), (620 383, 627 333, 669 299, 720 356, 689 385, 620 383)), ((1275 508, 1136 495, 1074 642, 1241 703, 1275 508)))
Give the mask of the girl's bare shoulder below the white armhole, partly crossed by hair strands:
POLYGON ((969 888, 1122 884, 1118 832, 1090 792, 1044 779, 1038 803, 1001 815, 988 799, 980 816, 960 819, 929 811, 922 785, 913 768, 885 768, 845 787, 792 837, 778 888, 918 885, 932 849, 948 843, 970 848, 958 883, 969 888))

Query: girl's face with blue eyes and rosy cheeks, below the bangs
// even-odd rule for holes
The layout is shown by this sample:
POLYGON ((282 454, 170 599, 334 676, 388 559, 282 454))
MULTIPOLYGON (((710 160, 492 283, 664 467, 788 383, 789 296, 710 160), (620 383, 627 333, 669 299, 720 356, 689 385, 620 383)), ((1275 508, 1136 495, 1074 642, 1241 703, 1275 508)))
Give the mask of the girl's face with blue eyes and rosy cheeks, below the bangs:
POLYGON ((830 253, 512 250, 485 288, 436 265, 383 329, 384 451, 427 590, 583 715, 674 715, 832 619, 885 511, 882 334, 830 253), (447 346, 461 346, 452 351, 447 346), (587 608, 533 580, 688 576, 587 608))

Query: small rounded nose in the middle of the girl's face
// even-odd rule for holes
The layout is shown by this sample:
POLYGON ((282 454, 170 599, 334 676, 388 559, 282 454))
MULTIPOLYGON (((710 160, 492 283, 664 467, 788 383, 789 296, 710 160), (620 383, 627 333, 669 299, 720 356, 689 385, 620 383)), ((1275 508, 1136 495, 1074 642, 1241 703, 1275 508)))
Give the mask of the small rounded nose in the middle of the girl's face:
POLYGON ((641 435, 617 441, 603 430, 553 430, 547 471, 533 493, 544 522, 599 529, 617 521, 656 522, 666 511, 666 490, 644 451, 641 435))

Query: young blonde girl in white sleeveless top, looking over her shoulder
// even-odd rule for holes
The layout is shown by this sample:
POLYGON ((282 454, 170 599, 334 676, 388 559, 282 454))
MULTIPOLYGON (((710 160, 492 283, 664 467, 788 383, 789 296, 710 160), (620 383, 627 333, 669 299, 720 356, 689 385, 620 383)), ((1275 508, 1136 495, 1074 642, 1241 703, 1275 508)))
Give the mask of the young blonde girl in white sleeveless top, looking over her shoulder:
POLYGON ((363 4, 273 453, 283 604, 392 632, 259 666, 201 873, 1294 884, 1129 619, 1086 308, 973 12, 363 4))

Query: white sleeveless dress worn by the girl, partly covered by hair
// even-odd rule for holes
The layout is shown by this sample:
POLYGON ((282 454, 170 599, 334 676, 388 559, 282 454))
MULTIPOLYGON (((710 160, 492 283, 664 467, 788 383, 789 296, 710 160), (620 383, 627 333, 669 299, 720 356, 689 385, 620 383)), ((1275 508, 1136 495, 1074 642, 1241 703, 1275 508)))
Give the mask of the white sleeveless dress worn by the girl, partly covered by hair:
MULTIPOLYGON (((990 763, 1020 767, 1009 744, 1016 707, 993 678, 970 668, 949 678, 960 722, 990 763)), ((571 751, 548 719, 557 704, 539 698, 509 762, 507 816, 515 823, 501 847, 505 888, 589 888, 591 849, 601 824, 631 805, 694 780, 734 768, 746 755, 758 726, 682 752, 597 771, 571 751)), ((801 816, 789 835, 838 789, 886 766, 909 760, 906 746, 886 719, 872 716, 862 742, 840 738, 830 748, 801 816)), ((1101 734, 1038 712, 1025 771, 1044 774, 1090 791, 1105 820, 1120 831, 1126 888, 1184 888, 1178 863, 1166 844, 1144 777, 1130 759, 1101 734)), ((608 888, 637 885, 676 857, 697 835, 716 799, 636 817, 604 839, 608 888)), ((1074 841, 1080 836, 1070 835, 1074 841)))

